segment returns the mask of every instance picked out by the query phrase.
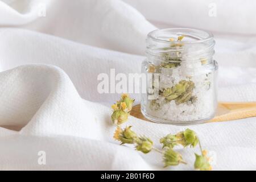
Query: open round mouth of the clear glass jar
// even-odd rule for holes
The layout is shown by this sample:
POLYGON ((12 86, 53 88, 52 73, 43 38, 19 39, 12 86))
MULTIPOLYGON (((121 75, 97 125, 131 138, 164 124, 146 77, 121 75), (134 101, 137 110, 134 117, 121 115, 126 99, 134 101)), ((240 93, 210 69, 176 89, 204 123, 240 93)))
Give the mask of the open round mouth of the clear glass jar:
POLYGON ((161 43, 194 44, 212 40, 213 34, 193 28, 164 28, 151 31, 148 33, 147 38, 161 43), (179 36, 184 36, 184 38, 178 41, 177 38, 179 36))

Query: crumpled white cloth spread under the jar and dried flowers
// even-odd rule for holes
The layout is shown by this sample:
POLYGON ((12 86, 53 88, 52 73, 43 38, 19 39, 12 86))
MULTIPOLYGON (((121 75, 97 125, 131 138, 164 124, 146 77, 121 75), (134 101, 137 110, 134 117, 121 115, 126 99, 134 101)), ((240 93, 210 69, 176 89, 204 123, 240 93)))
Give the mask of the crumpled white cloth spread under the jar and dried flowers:
MULTIPOLYGON (((153 4, 139 3, 145 9, 153 4)), ((160 22, 160 13, 155 14, 160 22)), ((207 22, 201 26, 212 28, 207 22)), ((240 33, 237 26, 227 30, 240 33)), ((0 1, 0 27, 0 169, 163 169, 158 153, 144 155, 113 140, 112 111, 99 102, 110 106, 119 94, 97 92, 100 73, 111 68, 141 72, 144 39, 155 29, 142 14, 118 0, 5 0, 0 1), (38 16, 42 3, 45 17, 38 16), (46 165, 39 165, 39 151, 46 152, 46 165)), ((249 30, 242 32, 245 39, 217 34, 220 101, 256 100, 256 44, 255 36, 246 42, 249 30)), ((139 94, 131 96, 139 101, 139 94)), ((189 127, 215 155, 213 169, 256 169, 255 118, 172 126, 130 117, 127 125, 158 148, 159 138, 189 127)), ((188 165, 165 169, 193 169, 194 151, 180 151, 188 165)))

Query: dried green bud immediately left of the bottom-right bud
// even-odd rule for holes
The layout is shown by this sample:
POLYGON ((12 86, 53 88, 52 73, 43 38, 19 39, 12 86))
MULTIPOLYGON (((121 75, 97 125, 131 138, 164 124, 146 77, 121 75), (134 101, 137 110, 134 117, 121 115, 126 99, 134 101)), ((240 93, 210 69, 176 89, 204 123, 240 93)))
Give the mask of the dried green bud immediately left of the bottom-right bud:
POLYGON ((164 167, 177 166, 180 163, 184 163, 181 154, 175 152, 172 148, 168 148, 168 150, 164 152, 163 159, 164 167))

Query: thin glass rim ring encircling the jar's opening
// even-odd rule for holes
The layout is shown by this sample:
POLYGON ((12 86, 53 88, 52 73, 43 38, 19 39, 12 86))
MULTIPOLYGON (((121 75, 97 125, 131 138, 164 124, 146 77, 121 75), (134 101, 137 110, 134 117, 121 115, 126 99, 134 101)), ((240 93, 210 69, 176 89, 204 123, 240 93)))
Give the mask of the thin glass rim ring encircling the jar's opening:
POLYGON ((182 42, 183 44, 193 44, 193 43, 204 43, 209 40, 212 40, 213 34, 207 31, 193 29, 193 28, 163 28, 163 29, 157 29, 149 32, 147 37, 153 39, 156 42, 162 42, 162 43, 181 43, 182 42), (164 40, 164 39, 160 39, 157 36, 157 34, 160 34, 161 32, 170 32, 170 33, 176 32, 176 35, 190 36, 195 38, 195 40, 192 40, 192 41, 164 40), (203 34, 205 35, 204 37, 202 37, 203 34))

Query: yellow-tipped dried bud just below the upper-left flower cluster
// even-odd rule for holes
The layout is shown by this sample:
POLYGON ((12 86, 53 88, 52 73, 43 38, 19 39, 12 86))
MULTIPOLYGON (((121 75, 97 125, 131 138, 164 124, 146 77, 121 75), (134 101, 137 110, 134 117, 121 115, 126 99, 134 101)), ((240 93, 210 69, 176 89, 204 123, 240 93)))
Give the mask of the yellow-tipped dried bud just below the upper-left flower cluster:
POLYGON ((134 140, 136 138, 137 134, 131 130, 131 126, 127 126, 125 130, 122 130, 120 127, 117 127, 114 133, 114 139, 119 140, 121 144, 134 143, 134 140))

